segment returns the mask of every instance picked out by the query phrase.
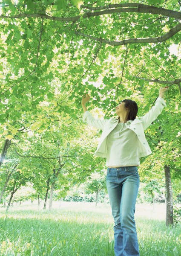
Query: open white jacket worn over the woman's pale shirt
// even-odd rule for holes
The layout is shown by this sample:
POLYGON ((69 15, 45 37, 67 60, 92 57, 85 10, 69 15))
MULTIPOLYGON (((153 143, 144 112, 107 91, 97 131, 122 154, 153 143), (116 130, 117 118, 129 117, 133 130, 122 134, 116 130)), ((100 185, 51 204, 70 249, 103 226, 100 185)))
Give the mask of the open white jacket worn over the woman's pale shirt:
MULTIPOLYGON (((144 130, 146 130, 149 125, 157 118, 161 113, 166 103, 164 99, 158 97, 155 105, 150 109, 150 111, 141 117, 141 119, 135 118, 135 120, 129 120, 126 122, 126 128, 134 131, 139 139, 139 155, 140 157, 145 157, 152 153, 148 142, 144 135, 144 130)), ((98 147, 95 151, 96 156, 106 157, 107 154, 107 136, 109 133, 118 125, 119 120, 113 118, 110 119, 95 119, 89 111, 86 111, 83 115, 83 122, 87 122, 88 125, 96 127, 103 130, 98 147)))

